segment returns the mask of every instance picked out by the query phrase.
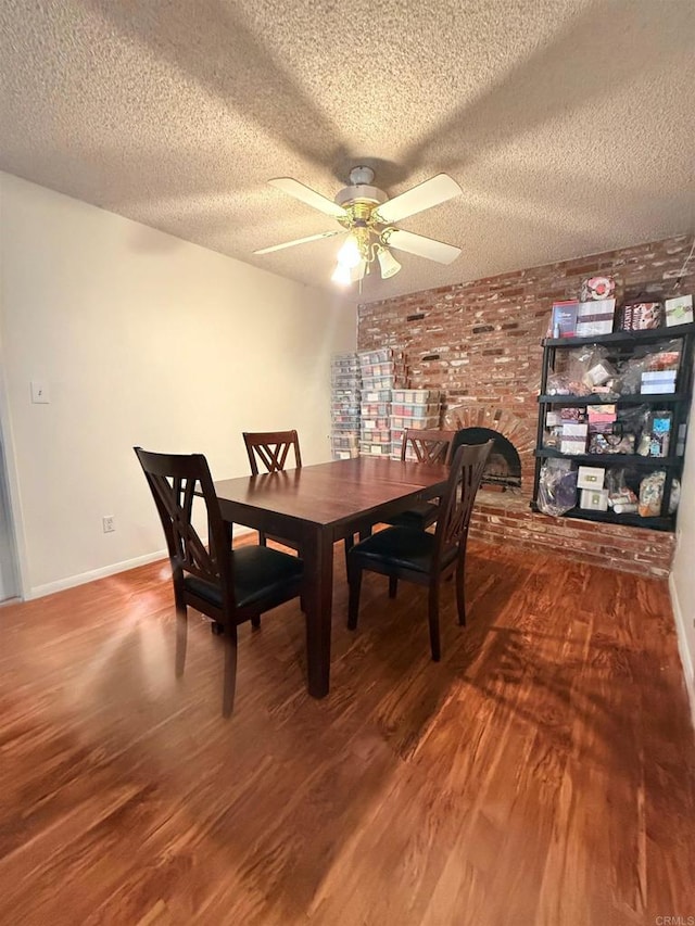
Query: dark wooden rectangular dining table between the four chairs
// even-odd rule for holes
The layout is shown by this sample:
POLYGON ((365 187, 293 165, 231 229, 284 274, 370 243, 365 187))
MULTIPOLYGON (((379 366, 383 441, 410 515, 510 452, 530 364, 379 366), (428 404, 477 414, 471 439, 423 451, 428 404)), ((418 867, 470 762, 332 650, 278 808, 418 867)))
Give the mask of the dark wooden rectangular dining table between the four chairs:
POLYGON ((313 697, 325 697, 330 684, 333 544, 438 497, 447 479, 443 465, 357 457, 215 482, 227 522, 299 542, 313 697))

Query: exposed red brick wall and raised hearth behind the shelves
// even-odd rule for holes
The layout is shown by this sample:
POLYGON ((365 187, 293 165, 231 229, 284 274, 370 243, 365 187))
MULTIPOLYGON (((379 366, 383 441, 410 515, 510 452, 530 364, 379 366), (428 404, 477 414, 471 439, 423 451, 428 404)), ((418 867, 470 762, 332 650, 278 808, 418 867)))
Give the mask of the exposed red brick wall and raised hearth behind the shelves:
MULTIPOLYGON (((532 513, 532 448, 541 339, 552 303, 579 297, 582 280, 598 274, 616 279, 618 305, 641 294, 668 297, 692 243, 692 236, 681 236, 359 306, 361 351, 403 350, 412 388, 442 390, 450 408, 464 406, 467 418, 475 409, 484 427, 503 422, 498 430, 519 452, 520 495, 481 493, 471 535, 546 546, 558 555, 627 571, 668 572, 671 534, 532 513), (509 421, 514 436, 504 427, 509 421)), ((695 257, 682 292, 695 292, 695 257)))

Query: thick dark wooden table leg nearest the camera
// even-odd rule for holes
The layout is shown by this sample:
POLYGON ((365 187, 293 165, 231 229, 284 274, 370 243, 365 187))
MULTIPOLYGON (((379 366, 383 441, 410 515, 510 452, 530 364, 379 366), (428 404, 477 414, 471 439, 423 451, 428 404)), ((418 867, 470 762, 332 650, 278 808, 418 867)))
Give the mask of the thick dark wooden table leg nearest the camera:
POLYGON ((330 684, 330 624, 333 602, 333 542, 317 529, 302 550, 306 570, 306 663, 308 693, 324 698, 330 684))

